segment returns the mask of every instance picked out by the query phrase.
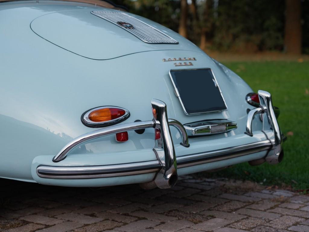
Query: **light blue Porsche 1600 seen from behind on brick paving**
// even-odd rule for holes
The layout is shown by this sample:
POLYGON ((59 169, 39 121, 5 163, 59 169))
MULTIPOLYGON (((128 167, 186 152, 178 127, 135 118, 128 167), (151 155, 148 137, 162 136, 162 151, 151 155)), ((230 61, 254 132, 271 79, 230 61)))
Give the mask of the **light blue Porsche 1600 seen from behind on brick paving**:
POLYGON ((0 22, 1 178, 165 189, 283 158, 270 93, 168 28, 99 0, 1 2, 0 22))

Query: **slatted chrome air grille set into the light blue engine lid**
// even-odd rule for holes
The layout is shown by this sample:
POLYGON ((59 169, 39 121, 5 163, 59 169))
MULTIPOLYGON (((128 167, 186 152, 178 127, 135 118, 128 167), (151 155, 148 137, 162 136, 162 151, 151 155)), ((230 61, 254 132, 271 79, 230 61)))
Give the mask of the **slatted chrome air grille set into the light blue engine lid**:
POLYGON ((178 44, 178 41, 168 36, 164 32, 142 22, 123 12, 117 11, 91 11, 91 14, 111 22, 118 27, 131 33, 138 39, 149 44, 178 44), (117 24, 117 22, 126 22, 133 25, 133 28, 125 28, 117 24))

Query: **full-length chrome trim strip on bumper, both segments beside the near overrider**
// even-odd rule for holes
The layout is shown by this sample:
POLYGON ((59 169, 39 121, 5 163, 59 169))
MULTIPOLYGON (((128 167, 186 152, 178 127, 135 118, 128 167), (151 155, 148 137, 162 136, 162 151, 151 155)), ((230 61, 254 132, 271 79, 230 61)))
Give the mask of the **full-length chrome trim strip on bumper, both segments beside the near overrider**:
MULTIPOLYGON (((177 157, 178 168, 205 164, 240 157, 260 151, 266 151, 272 147, 269 140, 263 140, 252 144, 245 144, 230 148, 195 153, 177 157)), ((36 173, 41 178, 53 179, 87 179, 105 178, 117 176, 129 176, 145 173, 154 173, 161 170, 162 164, 158 161, 145 161, 129 164, 101 165, 101 166, 38 166, 36 173)))

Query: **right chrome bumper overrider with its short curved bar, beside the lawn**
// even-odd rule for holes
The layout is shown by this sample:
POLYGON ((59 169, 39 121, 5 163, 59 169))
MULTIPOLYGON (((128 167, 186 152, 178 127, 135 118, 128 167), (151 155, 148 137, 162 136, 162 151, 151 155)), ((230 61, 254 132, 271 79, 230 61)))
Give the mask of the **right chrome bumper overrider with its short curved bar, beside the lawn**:
POLYGON ((271 94, 269 92, 259 90, 258 95, 260 99, 260 107, 257 107, 249 111, 245 134, 253 136, 252 121, 253 121, 254 116, 256 114, 266 113, 269 124, 273 131, 273 138, 270 139, 272 143, 272 148, 270 149, 268 155, 265 157, 265 160, 270 164, 277 164, 281 162, 283 159, 282 136, 281 136, 279 124, 277 122, 276 115, 273 109, 273 102, 272 102, 271 94))

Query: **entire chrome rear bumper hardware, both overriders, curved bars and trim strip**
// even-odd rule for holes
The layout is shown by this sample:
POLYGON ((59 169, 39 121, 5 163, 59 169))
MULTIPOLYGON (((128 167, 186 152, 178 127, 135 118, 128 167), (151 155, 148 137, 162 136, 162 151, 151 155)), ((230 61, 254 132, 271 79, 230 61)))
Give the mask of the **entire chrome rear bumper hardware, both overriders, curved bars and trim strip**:
POLYGON ((266 160, 270 163, 276 163, 276 159, 278 161, 279 154, 282 150, 280 129, 272 110, 273 108, 270 94, 265 91, 259 91, 259 96, 262 100, 261 102, 265 104, 249 112, 246 133, 252 135, 251 124, 254 116, 258 113, 266 112, 275 134, 275 139, 273 140, 267 139, 252 144, 245 144, 215 151, 180 156, 177 157, 176 162, 175 149, 169 126, 174 126, 178 129, 180 135, 182 136, 182 142, 180 144, 184 147, 189 147, 186 129, 177 120, 167 118, 167 108, 163 101, 153 99, 151 101, 154 116, 152 120, 111 126, 81 135, 62 148, 61 151, 53 158, 53 162, 59 162, 65 159, 66 155, 73 148, 85 141, 124 131, 146 128, 157 128, 161 132, 161 138, 159 140, 155 140, 155 146, 153 148, 157 160, 97 166, 39 165, 36 168, 36 173, 41 178, 54 179, 104 178, 155 173, 155 178, 153 180, 155 185, 159 188, 170 188, 173 187, 177 182, 177 166, 178 168, 184 168, 188 166, 239 157, 265 150, 269 150, 269 154, 266 157, 266 160))

